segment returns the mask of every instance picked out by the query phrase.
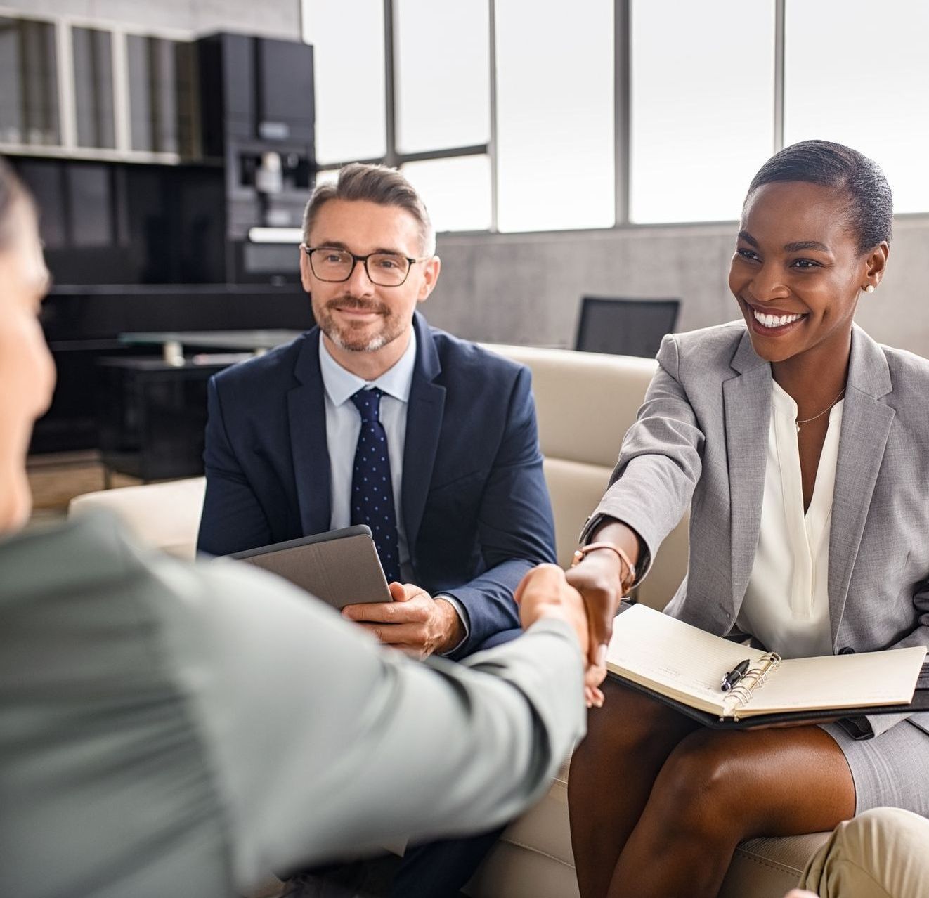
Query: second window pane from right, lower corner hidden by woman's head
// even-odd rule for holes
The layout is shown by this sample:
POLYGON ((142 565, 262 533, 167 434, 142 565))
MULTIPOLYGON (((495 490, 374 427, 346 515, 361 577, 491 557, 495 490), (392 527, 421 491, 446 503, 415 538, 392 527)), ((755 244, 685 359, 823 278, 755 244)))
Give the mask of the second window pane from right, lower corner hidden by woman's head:
POLYGON ((774 4, 632 10, 630 219, 739 217, 774 151, 774 4))

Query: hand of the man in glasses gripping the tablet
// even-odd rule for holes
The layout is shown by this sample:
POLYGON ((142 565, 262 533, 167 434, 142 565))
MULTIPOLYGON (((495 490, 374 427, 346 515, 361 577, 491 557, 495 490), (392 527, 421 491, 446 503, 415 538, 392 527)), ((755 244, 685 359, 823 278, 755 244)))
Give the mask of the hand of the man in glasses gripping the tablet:
POLYGON ((458 612, 444 599, 434 599, 412 583, 391 583, 393 602, 346 605, 342 616, 358 622, 385 645, 415 657, 446 652, 464 638, 458 612))

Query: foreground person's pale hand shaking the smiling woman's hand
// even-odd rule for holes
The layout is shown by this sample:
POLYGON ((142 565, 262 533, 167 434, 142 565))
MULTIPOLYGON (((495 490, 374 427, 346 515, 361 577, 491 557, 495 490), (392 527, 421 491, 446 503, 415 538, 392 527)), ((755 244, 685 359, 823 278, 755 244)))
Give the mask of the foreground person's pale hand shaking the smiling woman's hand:
MULTIPOLYGON (((543 618, 567 621, 577 634, 581 654, 589 655, 590 624, 581 593, 570 586, 565 572, 556 565, 539 565, 519 582, 514 595, 519 605, 519 619, 524 630, 543 618)), ((599 670, 589 662, 584 672, 584 697, 587 707, 603 704, 603 694, 596 687, 603 682, 606 669, 599 670)))

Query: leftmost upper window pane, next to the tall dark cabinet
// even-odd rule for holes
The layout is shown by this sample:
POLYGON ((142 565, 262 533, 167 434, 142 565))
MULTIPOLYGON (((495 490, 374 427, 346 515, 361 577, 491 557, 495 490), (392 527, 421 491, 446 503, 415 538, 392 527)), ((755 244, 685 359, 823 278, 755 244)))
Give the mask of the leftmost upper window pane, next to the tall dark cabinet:
POLYGON ((383 0, 304 3, 304 40, 316 68, 316 158, 386 155, 383 0))

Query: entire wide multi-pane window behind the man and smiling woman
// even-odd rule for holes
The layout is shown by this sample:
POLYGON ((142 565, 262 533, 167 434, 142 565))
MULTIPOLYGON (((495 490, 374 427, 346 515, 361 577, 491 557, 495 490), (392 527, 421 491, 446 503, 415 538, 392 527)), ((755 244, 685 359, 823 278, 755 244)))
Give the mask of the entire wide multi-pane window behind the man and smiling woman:
POLYGON ((319 161, 401 167, 439 230, 735 220, 807 137, 867 153, 897 212, 929 212, 922 0, 886 0, 865 37, 865 0, 303 3, 319 161))

